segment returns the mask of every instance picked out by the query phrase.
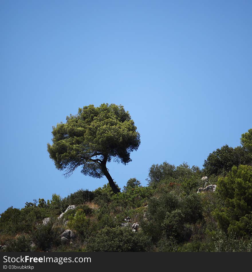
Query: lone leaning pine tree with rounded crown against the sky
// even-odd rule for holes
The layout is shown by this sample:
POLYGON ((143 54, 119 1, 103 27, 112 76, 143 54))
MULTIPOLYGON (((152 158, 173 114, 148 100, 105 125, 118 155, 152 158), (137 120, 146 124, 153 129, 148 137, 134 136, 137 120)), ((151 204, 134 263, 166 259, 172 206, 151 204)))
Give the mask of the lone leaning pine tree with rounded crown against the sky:
POLYGON ((114 193, 120 192, 106 163, 127 164, 130 152, 140 145, 140 134, 128 111, 122 105, 102 104, 79 108, 77 115, 66 117, 66 123, 52 127, 52 145, 47 144, 50 158, 65 176, 82 166, 81 173, 94 178, 105 176, 114 193))

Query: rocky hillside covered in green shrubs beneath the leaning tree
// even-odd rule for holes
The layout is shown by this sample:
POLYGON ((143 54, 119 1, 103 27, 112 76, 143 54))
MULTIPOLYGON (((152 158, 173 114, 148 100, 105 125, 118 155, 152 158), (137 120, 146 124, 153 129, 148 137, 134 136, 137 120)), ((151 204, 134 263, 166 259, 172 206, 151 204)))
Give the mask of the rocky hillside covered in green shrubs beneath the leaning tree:
POLYGON ((252 251, 251 135, 210 153, 203 169, 153 164, 147 186, 131 178, 119 193, 105 184, 10 207, 1 251, 252 251))

